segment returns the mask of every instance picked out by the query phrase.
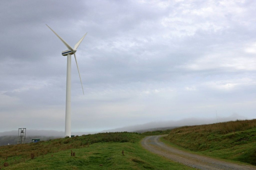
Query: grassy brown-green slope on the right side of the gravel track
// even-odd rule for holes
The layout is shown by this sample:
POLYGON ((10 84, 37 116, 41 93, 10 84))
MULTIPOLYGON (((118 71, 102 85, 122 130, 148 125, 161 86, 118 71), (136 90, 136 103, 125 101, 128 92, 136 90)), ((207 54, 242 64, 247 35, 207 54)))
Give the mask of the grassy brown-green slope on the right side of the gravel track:
POLYGON ((179 127, 165 139, 191 151, 256 165, 256 119, 179 127))

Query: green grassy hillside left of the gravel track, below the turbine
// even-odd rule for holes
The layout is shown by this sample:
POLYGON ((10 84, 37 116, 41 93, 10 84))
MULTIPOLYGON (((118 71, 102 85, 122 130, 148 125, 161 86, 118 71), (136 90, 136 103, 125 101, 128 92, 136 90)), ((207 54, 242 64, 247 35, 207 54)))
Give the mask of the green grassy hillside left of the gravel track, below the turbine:
MULTIPOLYGON (((163 131, 159 131, 153 134, 162 133, 163 131)), ((144 136, 144 134, 128 132, 99 133, 31 144, 1 146, 0 167, 1 169, 192 169, 143 149, 139 141, 144 136), (71 156, 71 150, 75 152, 75 156, 71 156)))

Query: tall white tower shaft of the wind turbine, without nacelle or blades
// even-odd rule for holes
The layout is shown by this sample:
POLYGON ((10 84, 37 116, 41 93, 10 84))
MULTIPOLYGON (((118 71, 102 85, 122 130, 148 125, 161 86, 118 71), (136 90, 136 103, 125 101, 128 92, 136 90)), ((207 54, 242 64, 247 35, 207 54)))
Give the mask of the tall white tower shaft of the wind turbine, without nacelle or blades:
POLYGON ((71 54, 67 54, 65 137, 71 137, 71 54))

